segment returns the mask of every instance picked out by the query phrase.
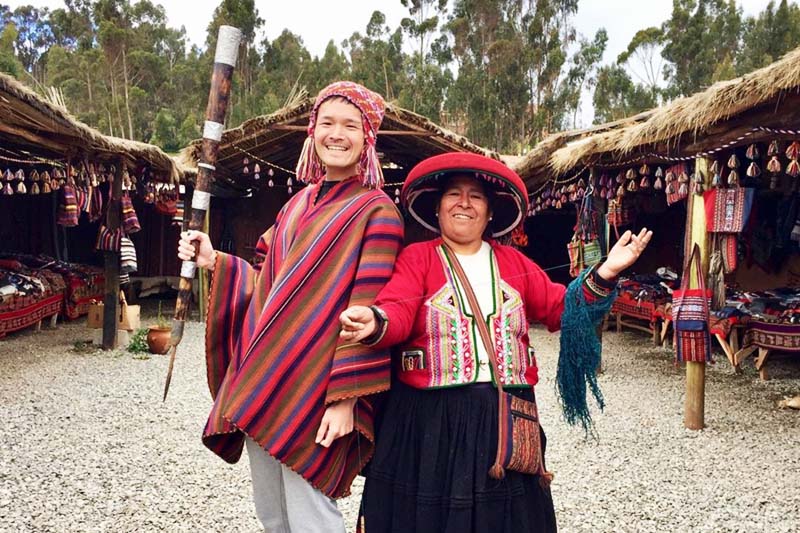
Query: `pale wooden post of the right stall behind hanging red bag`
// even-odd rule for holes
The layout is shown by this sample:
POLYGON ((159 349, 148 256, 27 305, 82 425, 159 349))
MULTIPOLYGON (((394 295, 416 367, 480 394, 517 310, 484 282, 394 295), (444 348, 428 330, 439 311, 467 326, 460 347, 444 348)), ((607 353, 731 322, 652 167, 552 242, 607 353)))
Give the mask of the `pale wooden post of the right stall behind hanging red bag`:
MULTIPOLYGON (((703 182, 708 186, 711 176, 708 172, 708 159, 697 158, 696 172, 703 176, 703 182)), ((691 187, 690 187, 691 189, 691 187)), ((689 192, 686 204, 686 217, 689 225, 686 232, 689 238, 686 239, 687 248, 684 250, 684 264, 686 258, 691 255, 691 250, 695 244, 700 247, 700 263, 702 265, 703 276, 708 275, 708 239, 706 233, 706 215, 702 196, 697 196, 694 192, 689 192)), ((689 286, 696 287, 698 280, 692 273, 689 286)), ((686 400, 684 403, 683 425, 688 429, 703 429, 705 427, 705 394, 706 394, 706 364, 705 363, 686 363, 686 400)))

